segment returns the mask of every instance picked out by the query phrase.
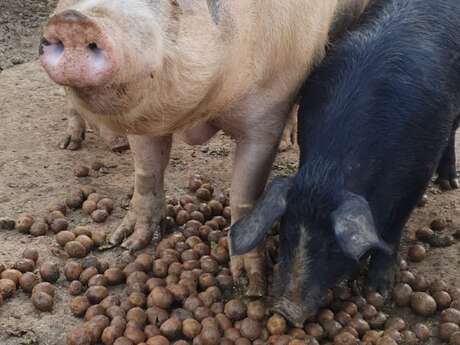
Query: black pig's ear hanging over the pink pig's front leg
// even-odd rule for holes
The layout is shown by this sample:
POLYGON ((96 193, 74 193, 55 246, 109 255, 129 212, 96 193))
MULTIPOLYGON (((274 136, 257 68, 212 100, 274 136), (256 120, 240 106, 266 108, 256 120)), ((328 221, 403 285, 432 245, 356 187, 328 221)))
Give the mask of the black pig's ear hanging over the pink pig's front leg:
POLYGON ((287 195, 293 178, 276 177, 247 216, 230 227, 230 253, 243 255, 265 238, 273 224, 286 210, 287 195))

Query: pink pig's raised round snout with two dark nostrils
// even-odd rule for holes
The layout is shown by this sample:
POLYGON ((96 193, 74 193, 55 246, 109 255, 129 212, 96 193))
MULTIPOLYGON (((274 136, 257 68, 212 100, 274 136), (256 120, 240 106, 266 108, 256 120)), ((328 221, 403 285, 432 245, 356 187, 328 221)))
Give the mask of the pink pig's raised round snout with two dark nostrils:
POLYGON ((56 83, 75 88, 107 84, 118 65, 115 44, 90 17, 65 10, 51 17, 40 43, 40 61, 56 83))

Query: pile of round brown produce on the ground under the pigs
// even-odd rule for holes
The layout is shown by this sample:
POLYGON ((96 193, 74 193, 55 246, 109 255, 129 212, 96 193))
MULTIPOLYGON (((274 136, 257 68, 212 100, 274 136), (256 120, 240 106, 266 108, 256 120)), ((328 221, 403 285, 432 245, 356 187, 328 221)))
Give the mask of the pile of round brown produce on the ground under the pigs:
MULTIPOLYGON (((231 217, 228 197, 215 193, 197 175, 191 177, 189 189, 190 195, 168 201, 170 235, 153 254, 129 255, 127 260, 109 264, 86 256, 93 246, 104 243, 105 233, 90 226, 58 232, 56 240, 73 257, 63 269, 68 292, 74 296, 70 312, 84 320, 67 334, 67 345, 416 345, 432 337, 460 345, 460 289, 442 280, 429 281, 409 270, 405 260, 400 263, 392 301, 385 306, 379 293, 363 297, 341 284, 327 291, 322 309, 303 328, 291 327, 282 316, 270 313, 264 299, 246 299, 234 289, 226 237, 231 217), (79 246, 77 251, 68 250, 77 247, 75 243, 84 250, 79 246), (409 325, 387 314, 388 306, 407 308, 429 320, 439 316, 440 325, 431 329, 423 323, 409 325)), ((110 213, 99 206, 102 198, 90 197, 94 191, 82 194, 84 200, 94 201, 88 214, 110 213)), ((78 207, 86 208, 84 200, 78 207)), ((417 238, 422 241, 419 234, 417 238)), ((276 234, 267 241, 275 259, 276 242, 276 234)), ((413 259, 413 252, 409 250, 409 261, 420 261, 413 259)), ((28 259, 35 264, 36 259, 28 259)), ((27 269, 33 267, 31 262, 28 265, 27 269)), ((3 273, 11 269, 4 270, 0 295, 11 296, 27 275, 34 287, 23 289, 35 294, 34 305, 46 304, 49 297, 52 301, 54 290, 47 282, 53 280, 44 278, 43 265, 44 283, 19 269, 19 278, 11 272, 4 278, 3 273)))

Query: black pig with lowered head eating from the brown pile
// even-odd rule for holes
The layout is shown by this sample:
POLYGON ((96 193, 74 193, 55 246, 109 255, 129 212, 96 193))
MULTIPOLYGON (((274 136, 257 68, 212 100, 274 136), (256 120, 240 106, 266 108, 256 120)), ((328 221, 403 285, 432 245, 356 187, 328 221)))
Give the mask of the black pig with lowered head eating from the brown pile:
POLYGON ((441 178, 457 183, 459 53, 460 1, 377 0, 304 85, 297 175, 275 179, 230 231, 241 255, 281 219, 273 309, 294 325, 362 259, 387 296, 401 231, 444 152, 441 178))

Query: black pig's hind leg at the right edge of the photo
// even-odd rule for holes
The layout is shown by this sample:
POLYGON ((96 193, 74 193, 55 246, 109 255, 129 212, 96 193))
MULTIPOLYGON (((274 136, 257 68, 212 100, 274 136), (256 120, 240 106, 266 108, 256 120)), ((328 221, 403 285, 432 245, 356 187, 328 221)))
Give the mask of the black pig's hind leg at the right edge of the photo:
POLYGON ((456 125, 449 138, 449 143, 442 155, 441 161, 438 166, 438 180, 439 187, 443 190, 458 189, 460 182, 457 176, 457 164, 455 157, 455 133, 458 125, 456 125))

